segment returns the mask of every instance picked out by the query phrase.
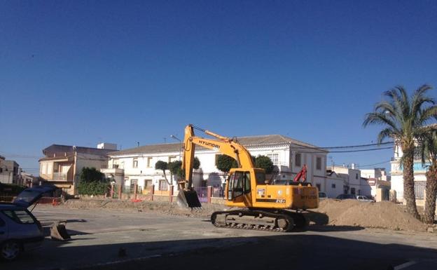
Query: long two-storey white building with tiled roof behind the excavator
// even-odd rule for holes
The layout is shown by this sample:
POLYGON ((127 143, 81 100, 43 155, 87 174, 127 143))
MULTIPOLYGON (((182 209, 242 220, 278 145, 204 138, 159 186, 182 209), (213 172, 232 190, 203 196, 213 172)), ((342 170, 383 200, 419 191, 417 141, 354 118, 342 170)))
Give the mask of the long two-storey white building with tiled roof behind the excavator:
MULTIPOLYGON (((279 172, 275 175, 276 178, 291 180, 306 164, 307 182, 319 187, 321 191, 326 190, 327 151, 282 135, 239 137, 238 142, 252 156, 269 156, 279 172)), ((146 189, 154 184, 155 189, 167 190, 167 182, 162 171, 155 170, 155 163, 178 160, 181 147, 180 143, 153 144, 111 152, 108 154, 108 168, 102 169, 102 173, 125 186, 137 183, 139 187, 146 189)), ((195 156, 200 160, 200 168, 193 172, 195 187, 219 187, 223 184, 223 173, 215 166, 216 156, 219 154, 221 153, 196 146, 195 156)), ((167 171, 167 179, 169 178, 167 171)), ((172 184, 176 185, 176 182, 173 181, 172 184)))

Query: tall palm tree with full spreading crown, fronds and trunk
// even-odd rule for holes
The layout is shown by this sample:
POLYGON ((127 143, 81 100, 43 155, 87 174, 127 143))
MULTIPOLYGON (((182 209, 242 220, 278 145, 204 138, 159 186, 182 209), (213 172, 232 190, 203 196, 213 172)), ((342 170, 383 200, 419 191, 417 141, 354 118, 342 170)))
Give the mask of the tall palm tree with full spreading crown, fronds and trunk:
POLYGON ((426 91, 431 86, 420 86, 411 97, 402 86, 384 92, 389 100, 382 100, 375 104, 374 112, 366 114, 363 126, 379 124, 385 126, 377 136, 378 143, 391 138, 401 146, 403 158, 403 198, 406 201, 407 211, 419 218, 416 208, 414 190, 413 165, 415 160, 415 144, 417 138, 422 137, 424 128, 429 120, 436 118, 437 106, 433 98, 427 97, 426 91))

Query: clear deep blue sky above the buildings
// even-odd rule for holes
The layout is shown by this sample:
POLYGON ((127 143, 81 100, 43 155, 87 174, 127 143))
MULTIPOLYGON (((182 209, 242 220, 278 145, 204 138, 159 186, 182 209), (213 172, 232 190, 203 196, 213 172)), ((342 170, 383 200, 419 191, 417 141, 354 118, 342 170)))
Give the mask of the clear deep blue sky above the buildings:
POLYGON ((375 142, 361 124, 384 90, 437 87, 436 33, 436 1, 0 1, 0 154, 32 172, 53 143, 175 142, 188 123, 375 142))

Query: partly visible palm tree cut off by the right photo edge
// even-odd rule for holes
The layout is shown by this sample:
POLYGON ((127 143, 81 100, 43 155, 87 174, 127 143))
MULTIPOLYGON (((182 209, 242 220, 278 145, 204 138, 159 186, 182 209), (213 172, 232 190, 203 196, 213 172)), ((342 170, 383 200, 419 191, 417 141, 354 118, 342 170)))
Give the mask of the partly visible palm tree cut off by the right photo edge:
POLYGON ((436 215, 437 196, 437 130, 436 126, 429 126, 429 132, 419 139, 419 151, 422 156, 422 164, 430 163, 426 172, 426 198, 424 210, 424 222, 434 223, 436 215))

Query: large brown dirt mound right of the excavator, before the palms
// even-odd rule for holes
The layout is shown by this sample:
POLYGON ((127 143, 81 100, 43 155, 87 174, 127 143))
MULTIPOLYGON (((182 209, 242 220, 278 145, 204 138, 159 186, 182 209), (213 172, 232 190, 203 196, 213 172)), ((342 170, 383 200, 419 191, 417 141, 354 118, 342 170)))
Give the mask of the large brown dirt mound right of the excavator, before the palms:
POLYGON ((408 214, 401 205, 388 201, 363 203, 326 199, 314 211, 326 214, 330 225, 426 231, 426 225, 408 214))

